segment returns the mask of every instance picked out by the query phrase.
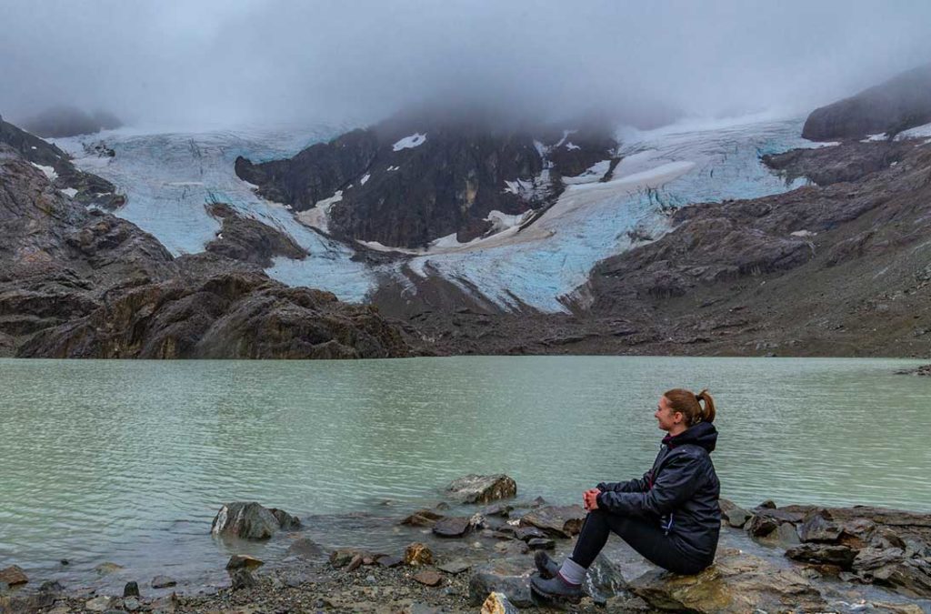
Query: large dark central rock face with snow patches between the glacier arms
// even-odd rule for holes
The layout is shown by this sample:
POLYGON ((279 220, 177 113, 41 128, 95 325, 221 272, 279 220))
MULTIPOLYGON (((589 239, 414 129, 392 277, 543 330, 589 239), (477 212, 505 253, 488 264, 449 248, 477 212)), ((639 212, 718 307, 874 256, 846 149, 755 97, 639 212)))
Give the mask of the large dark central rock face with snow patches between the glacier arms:
POLYGON ((451 234, 460 241, 481 236, 492 228, 491 211, 540 209, 559 195, 560 177, 595 162, 612 160, 610 176, 618 161, 610 130, 571 132, 506 130, 429 113, 397 116, 289 160, 238 158, 236 174, 259 185, 264 198, 297 211, 336 196, 330 227, 344 238, 421 247, 451 234))

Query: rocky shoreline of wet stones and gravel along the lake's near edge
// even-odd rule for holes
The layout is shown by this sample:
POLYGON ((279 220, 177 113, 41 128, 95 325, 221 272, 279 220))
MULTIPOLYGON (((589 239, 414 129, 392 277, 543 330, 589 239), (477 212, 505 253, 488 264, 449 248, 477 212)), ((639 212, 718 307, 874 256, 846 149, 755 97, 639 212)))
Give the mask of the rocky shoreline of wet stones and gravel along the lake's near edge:
MULTIPOLYGON (((0 614, 541 611, 552 604, 530 591, 533 553, 570 553, 585 512, 518 498, 505 475, 473 475, 450 484, 430 508, 350 516, 358 542, 380 533, 398 546, 326 547, 306 537, 314 517, 230 503, 214 519, 214 536, 283 539, 287 554, 268 562, 234 554, 228 583, 186 593, 164 576, 130 581, 121 592, 55 581, 36 589, 41 579, 9 566, 0 569, 0 614)), ((571 611, 920 614, 931 611, 931 514, 772 501, 743 509, 722 499, 713 566, 676 576, 611 539, 589 571, 586 594, 571 611)))

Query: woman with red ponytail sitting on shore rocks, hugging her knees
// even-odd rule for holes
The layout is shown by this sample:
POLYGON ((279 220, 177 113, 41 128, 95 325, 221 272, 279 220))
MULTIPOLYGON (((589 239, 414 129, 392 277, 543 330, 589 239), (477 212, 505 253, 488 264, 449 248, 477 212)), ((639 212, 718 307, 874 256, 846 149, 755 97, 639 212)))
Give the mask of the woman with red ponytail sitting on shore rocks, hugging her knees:
POLYGON ((573 555, 560 566, 537 553, 540 575, 531 580, 533 590, 551 599, 581 599, 588 566, 612 531, 669 571, 696 574, 711 565, 721 530, 721 484, 709 456, 718 439, 714 414, 706 390, 672 389, 660 397, 654 416, 668 435, 653 469, 640 480, 601 483, 585 492, 588 515, 573 555))

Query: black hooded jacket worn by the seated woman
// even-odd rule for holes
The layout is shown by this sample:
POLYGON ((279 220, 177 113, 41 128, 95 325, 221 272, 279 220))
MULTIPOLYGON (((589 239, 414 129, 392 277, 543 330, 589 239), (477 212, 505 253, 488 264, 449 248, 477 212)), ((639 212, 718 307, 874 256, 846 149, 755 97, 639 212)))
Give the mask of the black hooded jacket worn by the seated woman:
POLYGON ((710 457, 717 440, 718 431, 708 422, 666 437, 653 469, 640 480, 598 484, 598 507, 655 519, 690 558, 709 565, 721 531, 721 483, 710 457))

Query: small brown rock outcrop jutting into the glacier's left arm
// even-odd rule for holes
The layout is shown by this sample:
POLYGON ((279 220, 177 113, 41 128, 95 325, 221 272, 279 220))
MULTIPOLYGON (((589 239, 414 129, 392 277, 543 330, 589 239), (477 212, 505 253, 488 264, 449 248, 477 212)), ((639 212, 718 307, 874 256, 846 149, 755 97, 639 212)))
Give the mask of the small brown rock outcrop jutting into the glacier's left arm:
POLYGON ((272 266, 272 258, 275 256, 293 260, 304 260, 307 256, 306 250, 288 235, 243 217, 225 203, 212 203, 207 209, 223 224, 217 238, 204 247, 207 252, 263 268, 272 266))

